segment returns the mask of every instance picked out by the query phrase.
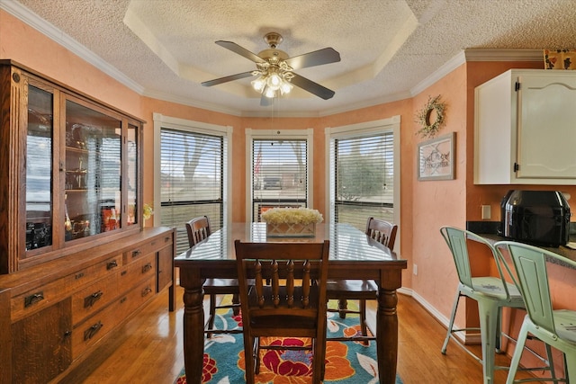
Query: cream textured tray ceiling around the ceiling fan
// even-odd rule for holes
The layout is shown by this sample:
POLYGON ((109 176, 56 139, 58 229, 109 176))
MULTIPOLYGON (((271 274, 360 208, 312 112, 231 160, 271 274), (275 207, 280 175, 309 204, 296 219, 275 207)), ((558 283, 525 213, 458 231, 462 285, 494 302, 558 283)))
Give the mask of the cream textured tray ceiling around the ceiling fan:
POLYGON ((0 7, 55 40, 76 40, 76 53, 139 94, 247 116, 270 108, 322 115, 410 97, 464 49, 576 46, 573 0, 0 0, 0 7), (340 62, 296 71, 334 90, 332 99, 294 87, 261 107, 252 78, 201 85, 256 68, 214 41, 258 53, 268 31, 283 35, 279 49, 290 57, 338 50, 340 62))

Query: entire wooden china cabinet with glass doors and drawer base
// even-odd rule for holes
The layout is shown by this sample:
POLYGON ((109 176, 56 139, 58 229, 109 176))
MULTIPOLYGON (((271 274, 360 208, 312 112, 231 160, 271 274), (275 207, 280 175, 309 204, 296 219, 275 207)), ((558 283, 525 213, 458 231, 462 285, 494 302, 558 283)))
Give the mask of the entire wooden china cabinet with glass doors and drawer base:
POLYGON ((75 380, 160 290, 172 228, 142 223, 143 121, 0 60, 0 383, 75 380))

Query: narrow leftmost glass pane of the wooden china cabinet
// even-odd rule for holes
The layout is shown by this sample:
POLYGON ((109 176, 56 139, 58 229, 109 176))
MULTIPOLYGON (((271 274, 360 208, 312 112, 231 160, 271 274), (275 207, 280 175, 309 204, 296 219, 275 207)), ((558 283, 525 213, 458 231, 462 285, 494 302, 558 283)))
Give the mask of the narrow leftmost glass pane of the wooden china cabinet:
POLYGON ((53 95, 28 89, 26 250, 52 245, 53 95))

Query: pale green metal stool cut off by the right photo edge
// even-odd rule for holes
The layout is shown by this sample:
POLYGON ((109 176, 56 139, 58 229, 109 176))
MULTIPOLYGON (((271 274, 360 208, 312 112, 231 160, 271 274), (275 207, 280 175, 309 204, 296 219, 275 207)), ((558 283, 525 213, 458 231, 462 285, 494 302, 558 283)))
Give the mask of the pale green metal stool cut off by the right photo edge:
POLYGON ((518 334, 518 344, 512 355, 507 384, 521 381, 515 380, 515 377, 528 335, 536 336, 546 345, 563 353, 565 379, 555 379, 553 371, 554 378, 551 381, 576 380, 576 310, 554 310, 546 267, 548 261, 563 261, 575 266, 576 263, 545 249, 514 241, 500 241, 494 246, 499 251, 508 251, 512 258, 516 270, 514 277, 527 309, 518 334))

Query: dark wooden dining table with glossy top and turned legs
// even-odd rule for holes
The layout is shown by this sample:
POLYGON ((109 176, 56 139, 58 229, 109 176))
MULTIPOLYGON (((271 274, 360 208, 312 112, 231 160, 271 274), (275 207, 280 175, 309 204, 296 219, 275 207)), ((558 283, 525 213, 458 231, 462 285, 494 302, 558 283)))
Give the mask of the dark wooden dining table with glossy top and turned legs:
POLYGON ((238 277, 234 240, 244 242, 330 241, 329 280, 372 279, 378 283, 376 351, 381 383, 396 381, 398 315, 396 290, 407 268, 388 247, 349 224, 317 224, 315 237, 266 237, 266 223, 232 223, 175 257, 184 288, 184 366, 189 384, 202 382, 204 312, 202 283, 238 277))

